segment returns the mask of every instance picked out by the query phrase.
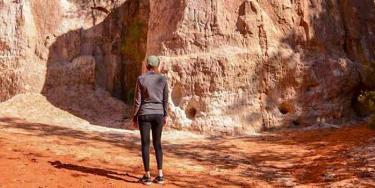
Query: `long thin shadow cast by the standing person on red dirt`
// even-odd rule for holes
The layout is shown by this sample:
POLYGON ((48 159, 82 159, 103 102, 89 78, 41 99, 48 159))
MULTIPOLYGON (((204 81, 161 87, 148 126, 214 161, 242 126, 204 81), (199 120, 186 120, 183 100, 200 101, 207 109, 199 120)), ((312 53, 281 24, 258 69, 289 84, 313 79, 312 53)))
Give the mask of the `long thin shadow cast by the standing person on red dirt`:
POLYGON ((139 178, 131 175, 129 173, 118 173, 110 170, 105 170, 101 168, 92 168, 92 167, 85 167, 75 164, 69 164, 69 163, 62 163, 60 161, 49 161, 49 163, 57 168, 57 169, 67 169, 72 171, 78 171, 86 174, 93 174, 97 176, 103 176, 106 178, 114 179, 114 180, 121 180, 128 183, 138 183, 139 178), (126 178, 123 178, 125 176, 126 178), (129 180, 131 179, 131 180, 129 180))

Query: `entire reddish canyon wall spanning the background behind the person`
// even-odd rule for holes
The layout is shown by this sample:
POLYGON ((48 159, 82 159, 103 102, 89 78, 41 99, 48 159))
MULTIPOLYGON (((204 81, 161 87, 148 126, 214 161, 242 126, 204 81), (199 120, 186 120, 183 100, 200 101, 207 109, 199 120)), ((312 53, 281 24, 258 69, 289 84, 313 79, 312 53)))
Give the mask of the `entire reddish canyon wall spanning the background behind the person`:
POLYGON ((91 122, 118 122, 129 111, 115 98, 131 103, 151 54, 177 129, 340 124, 374 88, 373 0, 93 2, 0 0, 1 101, 41 92, 91 122))

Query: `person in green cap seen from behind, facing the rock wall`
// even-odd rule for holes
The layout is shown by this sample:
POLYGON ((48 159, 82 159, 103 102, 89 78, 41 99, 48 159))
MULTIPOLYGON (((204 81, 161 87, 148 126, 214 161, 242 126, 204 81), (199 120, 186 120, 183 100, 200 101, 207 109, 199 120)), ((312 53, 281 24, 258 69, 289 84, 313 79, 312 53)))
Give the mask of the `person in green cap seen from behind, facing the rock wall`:
POLYGON ((147 72, 138 77, 134 96, 133 126, 139 127, 141 134, 145 174, 140 182, 145 185, 152 182, 149 167, 150 129, 158 167, 158 176, 153 182, 164 183, 161 135, 167 122, 168 84, 167 79, 158 73, 159 62, 157 56, 147 58, 147 72))

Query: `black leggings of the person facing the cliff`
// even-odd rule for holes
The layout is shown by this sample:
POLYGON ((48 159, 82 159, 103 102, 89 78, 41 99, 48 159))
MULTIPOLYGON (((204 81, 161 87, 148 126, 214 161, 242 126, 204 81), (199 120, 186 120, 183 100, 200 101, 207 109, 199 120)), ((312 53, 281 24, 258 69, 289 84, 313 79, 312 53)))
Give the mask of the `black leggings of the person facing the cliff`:
POLYGON ((161 133, 163 130, 163 115, 140 115, 138 117, 139 130, 142 141, 142 159, 145 171, 150 171, 150 129, 152 130, 152 143, 154 145, 158 169, 163 168, 163 151, 161 148, 161 133))

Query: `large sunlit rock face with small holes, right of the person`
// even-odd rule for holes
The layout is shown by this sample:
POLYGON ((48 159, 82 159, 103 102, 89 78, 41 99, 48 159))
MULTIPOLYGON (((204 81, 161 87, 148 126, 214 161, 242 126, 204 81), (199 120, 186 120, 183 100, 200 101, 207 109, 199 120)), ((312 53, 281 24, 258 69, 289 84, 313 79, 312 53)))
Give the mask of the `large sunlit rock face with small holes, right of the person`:
POLYGON ((174 125, 244 133, 352 118, 353 93, 363 81, 361 58, 369 64, 375 57, 374 6, 152 3, 148 53, 163 55, 174 125))

